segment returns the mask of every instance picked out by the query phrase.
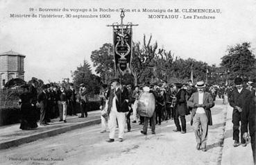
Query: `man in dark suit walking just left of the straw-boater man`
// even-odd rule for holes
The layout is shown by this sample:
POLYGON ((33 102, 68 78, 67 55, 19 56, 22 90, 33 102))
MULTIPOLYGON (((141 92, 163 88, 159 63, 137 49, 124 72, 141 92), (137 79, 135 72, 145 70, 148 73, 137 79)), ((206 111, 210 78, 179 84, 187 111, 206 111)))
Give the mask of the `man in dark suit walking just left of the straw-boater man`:
POLYGON ((175 84, 178 92, 176 94, 176 105, 175 105, 175 114, 174 114, 174 123, 176 125, 176 130, 173 130, 174 132, 180 132, 182 134, 186 133, 186 119, 185 115, 187 112, 187 103, 186 103, 186 91, 182 88, 181 83, 176 83, 175 84), (180 121, 181 121, 181 128, 180 128, 180 121, 179 121, 179 116, 180 116, 180 121))

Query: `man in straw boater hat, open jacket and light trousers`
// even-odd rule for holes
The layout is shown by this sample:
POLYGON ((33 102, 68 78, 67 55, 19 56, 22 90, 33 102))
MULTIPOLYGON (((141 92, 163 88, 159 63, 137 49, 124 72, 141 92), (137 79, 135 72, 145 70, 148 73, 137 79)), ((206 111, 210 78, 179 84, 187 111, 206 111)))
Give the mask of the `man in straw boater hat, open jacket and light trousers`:
POLYGON ((205 83, 196 83, 198 92, 191 95, 187 104, 192 107, 191 125, 194 126, 196 135, 196 149, 206 151, 206 141, 208 135, 208 125, 212 125, 212 114, 210 108, 214 106, 212 95, 205 92, 205 83))

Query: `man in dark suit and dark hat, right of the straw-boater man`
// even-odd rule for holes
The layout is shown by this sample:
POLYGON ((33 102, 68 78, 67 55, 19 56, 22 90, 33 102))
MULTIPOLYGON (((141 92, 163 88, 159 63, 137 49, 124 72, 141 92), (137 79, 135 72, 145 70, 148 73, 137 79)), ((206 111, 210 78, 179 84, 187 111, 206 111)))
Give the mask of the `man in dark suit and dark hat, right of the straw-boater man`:
MULTIPOLYGON (((232 123, 233 123, 233 140, 234 147, 239 146, 239 126, 241 121, 241 112, 245 109, 246 101, 249 99, 250 91, 243 87, 243 80, 241 78, 234 79, 235 88, 230 95, 230 106, 233 107, 232 123)), ((241 144, 246 146, 246 141, 242 134, 246 130, 241 128, 241 144)))

